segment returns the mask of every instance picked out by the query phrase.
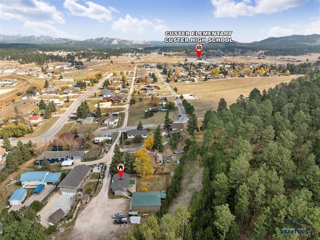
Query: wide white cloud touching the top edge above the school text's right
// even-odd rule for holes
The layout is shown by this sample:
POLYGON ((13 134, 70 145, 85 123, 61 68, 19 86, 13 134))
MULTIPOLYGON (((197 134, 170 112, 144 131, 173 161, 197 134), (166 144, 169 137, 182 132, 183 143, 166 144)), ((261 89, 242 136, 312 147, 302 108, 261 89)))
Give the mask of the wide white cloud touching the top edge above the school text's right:
POLYGON ((211 4, 215 8, 213 15, 216 18, 237 16, 254 16, 256 14, 273 14, 282 10, 299 7, 304 5, 308 0, 277 0, 270 2, 269 0, 255 0, 255 5, 250 5, 250 0, 242 0, 235 2, 232 0, 211 0, 211 4))

